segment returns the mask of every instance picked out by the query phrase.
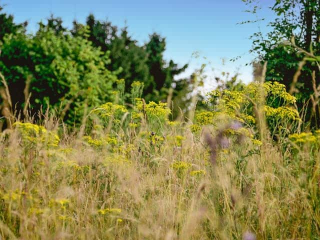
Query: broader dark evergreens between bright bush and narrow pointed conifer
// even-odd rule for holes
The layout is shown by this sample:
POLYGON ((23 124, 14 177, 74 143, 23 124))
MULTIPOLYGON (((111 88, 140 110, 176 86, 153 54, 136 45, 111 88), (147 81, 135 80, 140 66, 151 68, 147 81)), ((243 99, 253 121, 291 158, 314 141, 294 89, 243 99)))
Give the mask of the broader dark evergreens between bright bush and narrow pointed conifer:
MULTIPOLYGON (((126 27, 118 33, 116 26, 109 21, 96 20, 94 15, 90 14, 86 19, 88 32, 86 38, 94 46, 99 46, 102 51, 110 51, 111 64, 108 69, 116 71, 118 78, 125 79, 126 92, 133 81, 141 81, 145 86, 150 84, 148 66, 146 64, 147 53, 137 45, 137 41, 131 39, 126 27)), ((81 34, 78 29, 83 25, 74 22, 73 34, 81 34)))

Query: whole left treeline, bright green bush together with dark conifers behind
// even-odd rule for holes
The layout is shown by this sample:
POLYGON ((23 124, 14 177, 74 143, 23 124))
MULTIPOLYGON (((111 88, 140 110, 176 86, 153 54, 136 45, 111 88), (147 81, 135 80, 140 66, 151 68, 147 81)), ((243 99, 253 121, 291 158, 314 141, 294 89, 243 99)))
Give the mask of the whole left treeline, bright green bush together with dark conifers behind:
MULTIPOLYGON (((0 22, 0 72, 8 85, 10 105, 20 114, 23 109, 34 114, 50 106, 74 122, 85 106, 114 101, 118 94, 130 103, 134 81, 143 83, 146 101, 166 100, 171 92, 181 105, 190 91, 191 78, 174 79, 187 64, 179 67, 165 60, 165 38, 155 32, 140 45, 127 27, 118 29, 92 14, 84 24, 74 21, 72 29, 51 15, 46 23, 39 22, 34 34, 26 32, 27 22, 15 23, 12 15, 1 13, 0 22)), ((1 89, 3 106, 8 103, 3 85, 1 89)))

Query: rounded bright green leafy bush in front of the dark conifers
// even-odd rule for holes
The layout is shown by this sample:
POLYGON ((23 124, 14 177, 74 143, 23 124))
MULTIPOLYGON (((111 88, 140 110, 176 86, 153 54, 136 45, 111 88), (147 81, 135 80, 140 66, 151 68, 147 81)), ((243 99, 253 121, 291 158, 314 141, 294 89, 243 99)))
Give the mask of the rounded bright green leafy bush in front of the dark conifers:
POLYGON ((19 107, 25 102, 28 89, 32 114, 49 104, 60 108, 61 116, 71 123, 82 118, 86 106, 112 99, 116 76, 106 68, 108 54, 86 39, 57 35, 40 24, 34 36, 6 35, 1 51, 0 71, 8 83, 12 104, 19 107))

